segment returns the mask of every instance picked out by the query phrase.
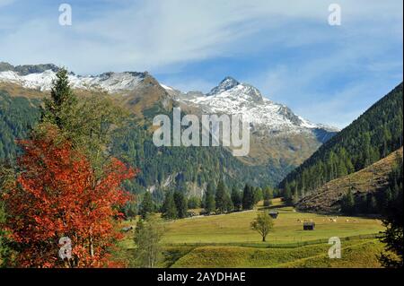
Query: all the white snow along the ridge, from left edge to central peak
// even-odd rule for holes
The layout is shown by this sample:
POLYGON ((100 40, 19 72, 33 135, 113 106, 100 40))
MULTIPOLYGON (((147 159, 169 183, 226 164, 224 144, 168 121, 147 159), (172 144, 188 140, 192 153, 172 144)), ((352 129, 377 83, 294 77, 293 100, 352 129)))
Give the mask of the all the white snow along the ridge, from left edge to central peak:
MULTIPOLYGON (((0 82, 13 82, 22 87, 49 91, 56 78, 56 65, 19 65, 0 63, 0 82)), ((105 73, 99 75, 69 74, 73 88, 101 90, 109 93, 133 91, 142 84, 147 73, 105 73)), ((156 84, 159 84, 156 82, 156 84)), ((317 125, 292 110, 264 98, 250 84, 238 82, 232 77, 224 78, 207 94, 199 91, 183 93, 170 86, 160 86, 174 99, 206 114, 238 115, 250 120, 251 130, 267 131, 270 134, 315 133, 318 130, 334 133, 337 128, 317 125)), ((195 110, 195 109, 194 109, 195 110)), ((322 136, 322 134, 321 134, 322 136)))

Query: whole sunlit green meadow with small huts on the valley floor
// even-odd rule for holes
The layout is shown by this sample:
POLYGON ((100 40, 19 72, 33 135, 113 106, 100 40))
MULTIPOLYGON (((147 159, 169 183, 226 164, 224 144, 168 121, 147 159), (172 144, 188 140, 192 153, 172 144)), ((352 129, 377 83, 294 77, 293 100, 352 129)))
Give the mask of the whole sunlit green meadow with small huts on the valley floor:
MULTIPOLYGON (((250 230, 250 221, 262 206, 249 212, 195 217, 165 222, 162 267, 380 267, 376 255, 382 243, 375 235, 382 221, 295 212, 279 200, 279 212, 267 242, 250 230), (303 222, 314 221, 315 230, 303 230, 303 222), (329 259, 328 239, 342 240, 342 258, 329 259)), ((133 254, 133 235, 123 241, 133 254)))

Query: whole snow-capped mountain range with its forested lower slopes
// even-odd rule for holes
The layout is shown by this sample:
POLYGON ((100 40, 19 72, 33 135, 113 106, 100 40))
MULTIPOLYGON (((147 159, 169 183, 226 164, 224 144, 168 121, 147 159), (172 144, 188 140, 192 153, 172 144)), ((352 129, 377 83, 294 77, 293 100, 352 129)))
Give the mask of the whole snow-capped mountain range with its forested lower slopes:
MULTIPOLYGON (((40 101, 56 78, 56 65, 0 63, 0 159, 13 160, 16 138, 23 138, 39 120, 40 101)), ((225 77, 212 91, 182 92, 166 86, 147 72, 69 75, 79 96, 108 95, 126 108, 131 120, 114 140, 111 151, 141 169, 131 186, 147 189, 156 198, 177 186, 190 195, 202 195, 206 182, 222 176, 229 186, 276 186, 308 159, 337 128, 314 124, 285 105, 263 97, 250 84, 225 77), (185 114, 242 115, 250 119, 250 154, 233 157, 224 147, 155 147, 152 120, 170 115, 173 107, 185 114)))

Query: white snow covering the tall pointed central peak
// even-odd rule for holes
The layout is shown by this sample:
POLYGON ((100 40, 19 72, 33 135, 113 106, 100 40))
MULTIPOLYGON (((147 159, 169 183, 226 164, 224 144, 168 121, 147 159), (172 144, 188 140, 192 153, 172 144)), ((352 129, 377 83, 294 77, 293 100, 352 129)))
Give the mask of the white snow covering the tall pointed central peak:
POLYGON ((323 129, 338 131, 333 127, 316 125, 303 117, 296 116, 292 110, 262 97, 258 89, 250 84, 226 77, 206 95, 189 96, 180 93, 177 100, 199 108, 206 114, 238 115, 250 120, 253 130, 268 130, 271 134, 312 133, 323 129))

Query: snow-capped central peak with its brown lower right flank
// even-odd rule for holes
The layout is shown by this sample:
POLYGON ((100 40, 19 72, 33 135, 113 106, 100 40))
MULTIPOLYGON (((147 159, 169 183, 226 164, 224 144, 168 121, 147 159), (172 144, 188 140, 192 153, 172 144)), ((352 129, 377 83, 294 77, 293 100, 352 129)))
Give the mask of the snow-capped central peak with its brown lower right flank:
POLYGON ((250 154, 242 160, 253 165, 272 164, 281 169, 294 169, 338 132, 337 128, 312 124, 290 108, 264 98, 250 84, 229 76, 207 94, 165 89, 181 108, 198 115, 227 114, 248 119, 250 154))

